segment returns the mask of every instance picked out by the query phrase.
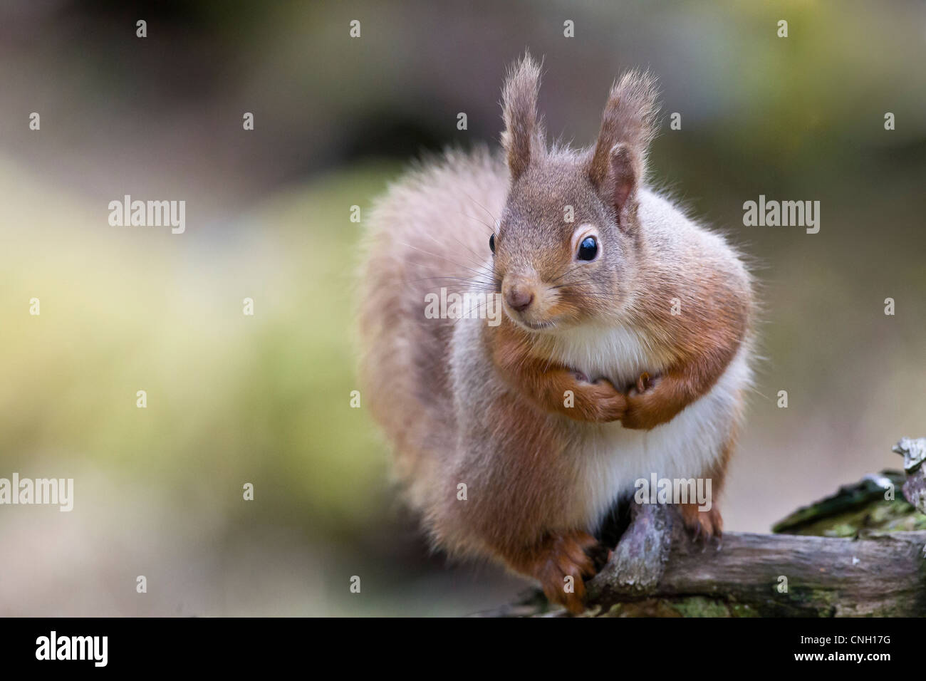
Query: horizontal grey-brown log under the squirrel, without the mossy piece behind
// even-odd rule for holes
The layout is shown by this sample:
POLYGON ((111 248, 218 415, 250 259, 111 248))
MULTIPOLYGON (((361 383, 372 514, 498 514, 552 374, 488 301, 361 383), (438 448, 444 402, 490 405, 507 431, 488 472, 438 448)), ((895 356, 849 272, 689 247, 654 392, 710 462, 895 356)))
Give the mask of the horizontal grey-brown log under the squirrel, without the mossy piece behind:
MULTIPOLYGON (((693 542, 666 506, 638 506, 588 584, 589 616, 926 616, 926 532, 861 538, 728 533, 693 542)), ((532 593, 488 616, 565 615, 532 593)))

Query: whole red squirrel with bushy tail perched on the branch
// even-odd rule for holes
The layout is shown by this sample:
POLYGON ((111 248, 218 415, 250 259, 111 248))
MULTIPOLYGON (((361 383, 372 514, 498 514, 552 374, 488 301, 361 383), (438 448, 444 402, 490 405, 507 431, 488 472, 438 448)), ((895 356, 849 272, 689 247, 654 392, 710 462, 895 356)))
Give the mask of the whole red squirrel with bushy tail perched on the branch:
POLYGON ((634 481, 709 479, 710 511, 679 511, 720 535, 755 304, 737 252, 644 184, 655 79, 619 78, 580 150, 546 143, 539 86, 525 55, 503 90, 503 153, 447 152, 377 204, 361 378, 433 543, 580 612, 595 533, 634 481), (429 318, 441 287, 504 314, 429 318))

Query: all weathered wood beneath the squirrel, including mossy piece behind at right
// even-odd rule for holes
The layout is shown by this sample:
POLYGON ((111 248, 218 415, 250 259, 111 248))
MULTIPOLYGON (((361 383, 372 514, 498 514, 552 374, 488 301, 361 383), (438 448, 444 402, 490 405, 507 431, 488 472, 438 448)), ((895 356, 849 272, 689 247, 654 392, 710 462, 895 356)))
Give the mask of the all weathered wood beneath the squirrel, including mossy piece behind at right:
MULTIPOLYGON (((926 438, 882 471, 798 509, 776 532, 696 542, 667 505, 632 505, 631 523, 588 583, 586 616, 926 616, 926 438), (895 488, 903 497, 895 499, 895 488), (890 529, 891 531, 882 531, 890 529), (906 531, 905 531, 906 530, 906 531), (851 534, 852 536, 845 536, 851 534)), ((560 616, 541 592, 483 616, 560 616)))

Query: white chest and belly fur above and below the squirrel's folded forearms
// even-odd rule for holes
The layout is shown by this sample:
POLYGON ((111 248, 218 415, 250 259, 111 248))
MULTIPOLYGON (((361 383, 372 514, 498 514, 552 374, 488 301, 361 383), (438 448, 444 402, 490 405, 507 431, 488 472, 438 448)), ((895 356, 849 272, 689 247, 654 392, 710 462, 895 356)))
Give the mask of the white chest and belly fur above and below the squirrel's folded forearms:
MULTIPOLYGON (((662 368, 641 334, 619 327, 563 336, 556 354, 590 378, 606 376, 619 386, 632 383, 640 372, 655 374, 662 368)), ((594 529, 621 494, 652 473, 686 479, 706 473, 730 438, 749 385, 748 354, 744 345, 705 396, 651 431, 630 430, 619 422, 583 424, 574 451, 580 474, 570 521, 594 529)))

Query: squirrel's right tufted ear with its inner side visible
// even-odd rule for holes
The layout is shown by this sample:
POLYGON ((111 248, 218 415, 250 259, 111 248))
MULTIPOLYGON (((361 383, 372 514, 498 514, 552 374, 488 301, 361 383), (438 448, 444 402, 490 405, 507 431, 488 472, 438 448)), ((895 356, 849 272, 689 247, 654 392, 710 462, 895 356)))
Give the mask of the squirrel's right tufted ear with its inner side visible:
POLYGON ((594 146, 589 177, 625 217, 646 171, 646 151, 656 134, 656 78, 628 71, 614 83, 594 146))

